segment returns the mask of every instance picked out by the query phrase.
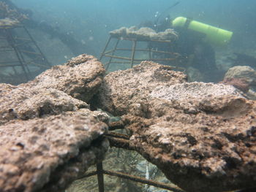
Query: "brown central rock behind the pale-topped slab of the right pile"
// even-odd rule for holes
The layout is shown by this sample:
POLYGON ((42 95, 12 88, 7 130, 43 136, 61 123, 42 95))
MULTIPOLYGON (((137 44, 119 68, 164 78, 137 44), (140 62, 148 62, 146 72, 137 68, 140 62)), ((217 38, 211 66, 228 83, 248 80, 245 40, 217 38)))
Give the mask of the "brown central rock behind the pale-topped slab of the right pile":
POLYGON ((104 78, 93 104, 118 115, 127 114, 131 106, 146 110, 142 109, 139 100, 146 99, 154 88, 186 82, 185 74, 172 69, 170 66, 143 61, 132 69, 111 72, 104 78))

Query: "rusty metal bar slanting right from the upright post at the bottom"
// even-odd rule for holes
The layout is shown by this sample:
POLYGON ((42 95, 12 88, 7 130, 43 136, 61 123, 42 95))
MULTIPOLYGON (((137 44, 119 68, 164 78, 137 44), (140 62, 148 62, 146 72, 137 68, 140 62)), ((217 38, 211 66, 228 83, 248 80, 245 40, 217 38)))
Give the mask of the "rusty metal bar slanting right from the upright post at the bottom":
POLYGON ((137 177, 137 176, 130 175, 130 174, 124 174, 124 173, 115 172, 115 171, 105 171, 105 170, 103 170, 103 173, 111 175, 111 176, 121 177, 121 178, 124 178, 124 179, 127 179, 127 180, 132 180, 132 181, 135 181, 135 182, 138 182, 138 183, 144 183, 144 184, 152 185, 152 186, 155 186, 157 188, 164 188, 164 189, 167 189, 167 190, 170 190, 170 191, 173 191, 173 192, 184 192, 183 190, 181 190, 180 188, 178 188, 174 185, 159 183, 159 182, 154 181, 154 180, 147 180, 145 178, 137 177))

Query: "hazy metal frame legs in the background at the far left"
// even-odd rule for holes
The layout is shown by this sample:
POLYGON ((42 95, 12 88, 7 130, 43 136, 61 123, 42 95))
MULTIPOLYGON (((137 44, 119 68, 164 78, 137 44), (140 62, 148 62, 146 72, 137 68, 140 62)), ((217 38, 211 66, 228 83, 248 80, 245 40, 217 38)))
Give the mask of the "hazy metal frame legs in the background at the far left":
MULTIPOLYGON (((11 78, 22 74, 23 81, 31 80, 32 72, 42 72, 51 66, 27 28, 19 24, 0 26, 0 54, 1 72, 10 74, 11 78)), ((6 78, 1 73, 1 82, 6 78)))

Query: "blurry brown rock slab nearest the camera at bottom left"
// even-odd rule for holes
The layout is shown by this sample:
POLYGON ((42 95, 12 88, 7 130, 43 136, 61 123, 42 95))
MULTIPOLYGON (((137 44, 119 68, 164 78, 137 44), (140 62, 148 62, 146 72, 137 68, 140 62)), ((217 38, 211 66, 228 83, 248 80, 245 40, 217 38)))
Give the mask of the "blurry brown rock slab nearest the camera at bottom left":
POLYGON ((86 109, 0 126, 0 191, 64 191, 102 161, 107 128, 86 109))

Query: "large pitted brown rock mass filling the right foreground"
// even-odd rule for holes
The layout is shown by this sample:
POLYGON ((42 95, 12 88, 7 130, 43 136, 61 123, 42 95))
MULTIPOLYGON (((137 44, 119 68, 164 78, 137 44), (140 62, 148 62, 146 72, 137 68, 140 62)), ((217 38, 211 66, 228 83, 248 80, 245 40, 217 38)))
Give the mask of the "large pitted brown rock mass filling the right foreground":
POLYGON ((123 115, 130 145, 185 191, 256 186, 256 103, 232 85, 145 61, 108 74, 94 104, 123 115))

